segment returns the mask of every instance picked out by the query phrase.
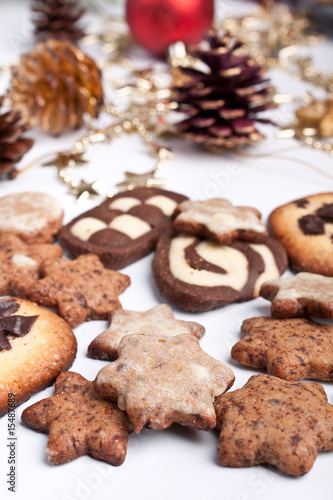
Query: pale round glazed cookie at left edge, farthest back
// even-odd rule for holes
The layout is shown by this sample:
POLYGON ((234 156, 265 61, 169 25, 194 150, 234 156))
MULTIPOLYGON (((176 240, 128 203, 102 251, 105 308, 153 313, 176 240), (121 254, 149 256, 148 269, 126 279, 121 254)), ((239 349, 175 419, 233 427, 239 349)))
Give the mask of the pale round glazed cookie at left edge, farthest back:
POLYGON ((27 243, 51 243, 62 227, 63 210, 45 193, 15 193, 0 198, 0 231, 27 243))

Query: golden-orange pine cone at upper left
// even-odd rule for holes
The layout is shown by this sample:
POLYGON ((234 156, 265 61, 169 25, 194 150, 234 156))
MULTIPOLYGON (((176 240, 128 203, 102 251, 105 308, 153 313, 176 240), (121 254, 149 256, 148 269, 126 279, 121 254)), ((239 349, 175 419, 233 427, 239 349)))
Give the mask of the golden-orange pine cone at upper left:
POLYGON ((84 114, 98 115, 103 103, 96 63, 67 41, 47 40, 21 57, 13 68, 8 96, 32 126, 58 135, 84 124, 84 114))

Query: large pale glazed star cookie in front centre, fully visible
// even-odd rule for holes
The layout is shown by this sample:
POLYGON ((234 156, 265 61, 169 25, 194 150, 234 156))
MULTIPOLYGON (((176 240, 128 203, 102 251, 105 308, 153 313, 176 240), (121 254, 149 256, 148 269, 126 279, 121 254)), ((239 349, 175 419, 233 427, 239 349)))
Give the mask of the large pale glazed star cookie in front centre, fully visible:
POLYGON ((95 389, 118 401, 135 432, 162 430, 173 422, 213 429, 214 398, 234 381, 230 368, 206 354, 194 335, 127 335, 119 358, 98 373, 95 389))

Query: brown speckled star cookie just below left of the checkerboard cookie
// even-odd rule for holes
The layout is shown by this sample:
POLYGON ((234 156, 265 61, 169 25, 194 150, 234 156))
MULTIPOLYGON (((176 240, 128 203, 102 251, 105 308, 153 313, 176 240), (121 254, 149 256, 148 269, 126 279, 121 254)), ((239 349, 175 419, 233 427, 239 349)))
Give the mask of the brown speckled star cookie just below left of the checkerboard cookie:
POLYGON ((120 309, 118 295, 131 281, 124 274, 105 269, 92 254, 74 261, 45 260, 41 273, 45 278, 29 288, 27 297, 56 308, 72 328, 84 321, 107 319, 111 311, 120 309))

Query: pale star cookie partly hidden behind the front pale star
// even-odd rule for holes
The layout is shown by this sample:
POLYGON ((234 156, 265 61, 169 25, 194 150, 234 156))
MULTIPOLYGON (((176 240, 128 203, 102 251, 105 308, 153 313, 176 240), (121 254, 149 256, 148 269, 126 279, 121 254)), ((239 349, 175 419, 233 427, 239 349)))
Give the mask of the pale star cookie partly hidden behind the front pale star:
POLYGON ((144 312, 119 309, 111 313, 110 321, 110 327, 89 345, 88 356, 91 358, 113 361, 118 357, 121 339, 133 333, 168 337, 189 333, 198 339, 205 333, 205 328, 199 323, 176 320, 171 307, 166 304, 144 312))

